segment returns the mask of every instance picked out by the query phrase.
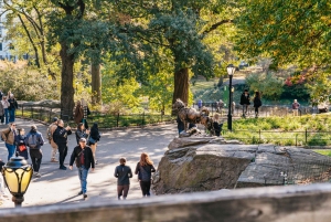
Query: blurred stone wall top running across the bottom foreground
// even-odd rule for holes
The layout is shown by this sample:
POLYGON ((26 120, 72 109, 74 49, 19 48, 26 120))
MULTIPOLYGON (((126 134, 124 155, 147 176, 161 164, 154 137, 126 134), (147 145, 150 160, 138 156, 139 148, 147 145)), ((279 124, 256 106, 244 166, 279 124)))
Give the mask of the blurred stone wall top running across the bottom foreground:
POLYGON ((0 210, 8 222, 329 222, 331 186, 285 186, 0 210))

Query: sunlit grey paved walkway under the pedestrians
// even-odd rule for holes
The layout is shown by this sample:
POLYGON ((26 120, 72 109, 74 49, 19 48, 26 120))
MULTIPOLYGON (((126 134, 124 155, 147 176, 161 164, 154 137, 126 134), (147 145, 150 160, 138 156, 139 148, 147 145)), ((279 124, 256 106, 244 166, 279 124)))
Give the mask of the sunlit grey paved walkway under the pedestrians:
MULTIPOLYGON (((18 127, 23 127, 25 133, 30 130, 30 126, 35 124, 38 130, 46 138, 46 128, 39 123, 17 119, 18 127)), ((6 125, 0 125, 0 130, 6 125)), ((85 201, 116 200, 116 178, 114 177, 115 167, 118 166, 120 157, 127 158, 127 166, 135 171, 139 161, 140 154, 146 151, 157 167, 161 160, 167 146, 177 136, 177 126, 160 125, 147 128, 129 128, 124 130, 102 131, 102 139, 97 146, 97 159, 95 172, 89 172, 87 178, 87 194, 85 201)), ((68 136, 68 156, 65 166, 68 167, 70 156, 76 146, 75 135, 68 136)), ((54 203, 76 203, 83 201, 82 195, 77 195, 81 190, 76 167, 73 170, 60 170, 58 163, 50 162, 51 146, 46 144, 42 147, 43 160, 40 169, 41 178, 33 178, 28 192, 24 195, 22 207, 44 205, 54 203)), ((8 151, 2 142, 0 142, 0 158, 7 160, 8 151)), ((31 161, 29 160, 31 163, 31 161)), ((141 191, 137 176, 131 179, 128 199, 141 198, 141 191)), ((13 208, 11 194, 2 200, 1 208, 13 208)))

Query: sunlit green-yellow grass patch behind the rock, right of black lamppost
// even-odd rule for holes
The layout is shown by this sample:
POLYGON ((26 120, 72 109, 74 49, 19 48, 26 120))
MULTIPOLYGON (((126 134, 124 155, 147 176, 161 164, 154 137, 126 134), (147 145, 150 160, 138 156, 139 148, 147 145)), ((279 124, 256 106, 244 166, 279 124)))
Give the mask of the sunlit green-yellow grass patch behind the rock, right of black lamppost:
POLYGON ((233 131, 224 130, 223 136, 245 144, 331 146, 329 116, 242 118, 234 120, 233 131))

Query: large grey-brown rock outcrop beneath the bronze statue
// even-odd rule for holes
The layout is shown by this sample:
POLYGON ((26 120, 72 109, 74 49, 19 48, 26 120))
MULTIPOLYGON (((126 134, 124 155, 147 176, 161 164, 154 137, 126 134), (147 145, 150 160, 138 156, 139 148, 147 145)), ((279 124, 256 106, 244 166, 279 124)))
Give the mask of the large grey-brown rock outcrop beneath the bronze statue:
POLYGON ((328 180, 331 158, 274 145, 222 138, 174 138, 153 177, 157 194, 328 180), (320 178, 318 178, 320 177, 320 178))

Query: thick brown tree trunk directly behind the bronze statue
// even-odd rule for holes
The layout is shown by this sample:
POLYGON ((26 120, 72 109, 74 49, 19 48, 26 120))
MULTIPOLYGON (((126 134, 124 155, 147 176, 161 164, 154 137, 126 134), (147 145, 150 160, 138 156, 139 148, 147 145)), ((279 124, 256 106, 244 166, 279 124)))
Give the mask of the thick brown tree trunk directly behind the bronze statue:
MULTIPOLYGON (((175 99, 180 98, 184 104, 188 105, 189 102, 189 68, 183 67, 174 73, 174 89, 172 104, 175 99)), ((174 110, 171 112, 171 115, 177 115, 174 110)))

